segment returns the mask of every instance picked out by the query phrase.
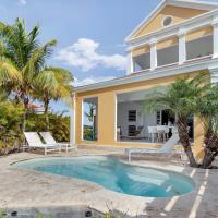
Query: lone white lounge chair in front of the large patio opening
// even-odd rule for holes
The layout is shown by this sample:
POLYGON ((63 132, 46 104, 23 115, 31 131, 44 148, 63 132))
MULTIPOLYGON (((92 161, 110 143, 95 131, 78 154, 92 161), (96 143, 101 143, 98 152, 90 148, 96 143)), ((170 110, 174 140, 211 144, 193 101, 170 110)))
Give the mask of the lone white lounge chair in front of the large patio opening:
POLYGON ((178 133, 173 133, 172 136, 161 146, 161 148, 126 148, 125 152, 129 157, 129 161, 131 161, 131 155, 135 154, 169 154, 172 152, 174 145, 178 144, 180 137, 178 133))

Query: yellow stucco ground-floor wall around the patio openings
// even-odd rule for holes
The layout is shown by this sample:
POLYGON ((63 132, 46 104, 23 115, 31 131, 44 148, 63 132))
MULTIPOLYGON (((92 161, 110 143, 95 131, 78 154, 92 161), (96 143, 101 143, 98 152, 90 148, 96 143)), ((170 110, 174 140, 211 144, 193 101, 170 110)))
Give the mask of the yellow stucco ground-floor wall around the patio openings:
MULTIPOLYGON (((196 73, 190 73, 181 75, 194 76, 196 73)), ((168 85, 173 83, 174 76, 149 80, 145 82, 132 83, 128 85, 113 86, 108 88, 101 88, 90 92, 84 92, 76 94, 76 144, 94 144, 94 145, 111 145, 111 146, 130 146, 130 147, 157 147, 155 144, 142 144, 142 143, 124 143, 116 142, 116 98, 117 94, 149 89, 160 85, 168 85), (84 98, 98 97, 98 141, 88 142, 82 140, 82 102, 84 98)), ((203 126, 198 120, 195 119, 195 146, 196 155, 201 152, 203 140, 203 126)))

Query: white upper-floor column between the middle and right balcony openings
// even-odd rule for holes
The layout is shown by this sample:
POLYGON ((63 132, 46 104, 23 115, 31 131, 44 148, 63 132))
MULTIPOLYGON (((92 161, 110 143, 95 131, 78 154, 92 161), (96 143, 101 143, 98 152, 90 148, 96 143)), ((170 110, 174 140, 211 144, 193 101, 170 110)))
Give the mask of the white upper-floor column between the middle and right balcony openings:
POLYGON ((179 29, 179 64, 183 64, 186 61, 186 41, 185 41, 185 31, 179 29))

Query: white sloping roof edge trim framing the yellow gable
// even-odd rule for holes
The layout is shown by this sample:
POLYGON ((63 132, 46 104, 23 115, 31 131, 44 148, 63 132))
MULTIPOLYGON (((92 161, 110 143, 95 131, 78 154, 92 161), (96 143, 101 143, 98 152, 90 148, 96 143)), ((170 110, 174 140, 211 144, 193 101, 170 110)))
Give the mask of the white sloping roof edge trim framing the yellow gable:
POLYGON ((137 33, 140 28, 148 24, 166 5, 181 7, 181 8, 190 8, 197 10, 207 10, 211 11, 218 9, 218 3, 215 2, 206 2, 198 0, 161 0, 160 3, 148 14, 148 16, 136 26, 125 38, 125 43, 132 39, 132 37, 137 33))

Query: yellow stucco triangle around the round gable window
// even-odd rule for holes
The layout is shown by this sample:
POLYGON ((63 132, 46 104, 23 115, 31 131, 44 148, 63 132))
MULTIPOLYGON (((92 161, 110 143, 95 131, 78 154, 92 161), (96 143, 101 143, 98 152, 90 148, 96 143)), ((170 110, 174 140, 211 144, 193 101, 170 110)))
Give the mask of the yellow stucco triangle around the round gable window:
POLYGON ((206 12, 208 11, 167 5, 148 24, 142 26, 132 39, 162 28, 162 19, 167 15, 171 15, 173 17, 172 24, 177 24, 206 12))

